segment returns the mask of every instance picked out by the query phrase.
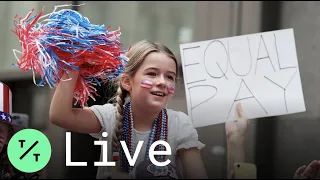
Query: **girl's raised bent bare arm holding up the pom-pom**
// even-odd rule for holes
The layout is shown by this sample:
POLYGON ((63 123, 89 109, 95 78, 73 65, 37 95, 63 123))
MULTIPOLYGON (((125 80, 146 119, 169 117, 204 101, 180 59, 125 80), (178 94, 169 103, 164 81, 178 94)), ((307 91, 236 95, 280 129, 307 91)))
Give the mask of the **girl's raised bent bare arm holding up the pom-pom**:
POLYGON ((74 132, 98 133, 101 124, 91 110, 72 108, 78 75, 77 71, 63 75, 64 80, 58 84, 51 101, 50 120, 53 124, 74 132))

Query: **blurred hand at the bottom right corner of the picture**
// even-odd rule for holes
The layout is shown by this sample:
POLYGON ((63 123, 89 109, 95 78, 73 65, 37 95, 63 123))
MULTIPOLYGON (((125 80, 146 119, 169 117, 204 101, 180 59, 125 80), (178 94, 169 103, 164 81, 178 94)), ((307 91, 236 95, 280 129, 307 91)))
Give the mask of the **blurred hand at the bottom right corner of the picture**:
POLYGON ((320 161, 314 160, 308 166, 296 170, 293 179, 320 179, 320 161))

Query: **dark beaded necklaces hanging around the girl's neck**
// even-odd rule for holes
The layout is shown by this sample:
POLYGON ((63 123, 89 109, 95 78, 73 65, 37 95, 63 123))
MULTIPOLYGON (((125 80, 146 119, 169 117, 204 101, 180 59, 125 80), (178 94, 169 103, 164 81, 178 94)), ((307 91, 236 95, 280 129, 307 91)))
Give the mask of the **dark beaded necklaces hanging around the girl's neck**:
MULTIPOLYGON (((123 128, 121 134, 121 141, 125 141, 128 150, 130 152, 130 156, 133 157, 134 154, 134 136, 133 136, 133 116, 131 111, 131 102, 128 102, 125 106, 124 111, 124 120, 123 120, 123 128)), ((152 143, 158 140, 167 141, 168 137, 168 115, 167 110, 163 108, 159 113, 158 117, 155 119, 152 130, 149 135, 148 144, 145 153, 145 159, 149 159, 149 149, 152 143)), ((165 151, 166 148, 163 145, 158 145, 155 148, 156 151, 165 151)), ((120 168, 125 172, 130 172, 133 167, 130 166, 126 155, 122 148, 120 148, 120 168)), ((165 160, 165 155, 155 156, 155 159, 158 161, 165 160)))

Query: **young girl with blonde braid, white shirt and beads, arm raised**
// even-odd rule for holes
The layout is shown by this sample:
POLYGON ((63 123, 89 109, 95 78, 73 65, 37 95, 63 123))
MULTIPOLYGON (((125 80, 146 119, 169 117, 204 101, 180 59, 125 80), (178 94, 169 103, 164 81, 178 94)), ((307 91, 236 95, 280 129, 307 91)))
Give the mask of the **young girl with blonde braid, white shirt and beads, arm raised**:
MULTIPOLYGON (((50 107, 51 121, 62 128, 89 133, 108 141, 108 161, 115 161, 116 167, 98 167, 98 179, 121 175, 115 171, 136 178, 139 164, 142 164, 140 169, 145 167, 145 172, 153 177, 170 175, 171 178, 179 178, 181 170, 175 168, 180 162, 184 178, 207 178, 199 151, 205 145, 198 140, 189 117, 183 112, 165 108, 174 94, 178 75, 176 57, 164 45, 149 41, 138 42, 126 56, 129 61, 119 79, 115 105, 108 103, 73 109, 73 91, 79 73, 71 72, 63 79, 72 80, 61 81, 55 91, 50 107), (170 159, 173 169, 167 167, 164 171, 149 162, 150 145, 157 140, 168 142, 172 151, 170 156, 158 156, 157 160, 170 159), (138 142, 143 141, 134 167, 129 165, 120 141, 125 141, 131 157, 138 142), (148 166, 145 166, 146 162, 148 166), (110 173, 111 169, 115 171, 110 173)), ((230 139, 238 136, 233 136, 232 132, 228 134, 230 139)), ((165 147, 159 145, 155 150, 165 150, 165 147)))

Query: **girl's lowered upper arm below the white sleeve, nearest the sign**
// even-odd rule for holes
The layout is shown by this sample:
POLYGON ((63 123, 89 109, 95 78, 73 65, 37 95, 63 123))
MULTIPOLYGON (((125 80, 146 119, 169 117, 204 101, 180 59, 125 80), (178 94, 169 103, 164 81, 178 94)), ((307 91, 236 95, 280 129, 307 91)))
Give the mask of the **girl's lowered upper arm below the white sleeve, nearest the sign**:
POLYGON ((198 148, 178 151, 186 179, 208 179, 207 172, 198 148))

